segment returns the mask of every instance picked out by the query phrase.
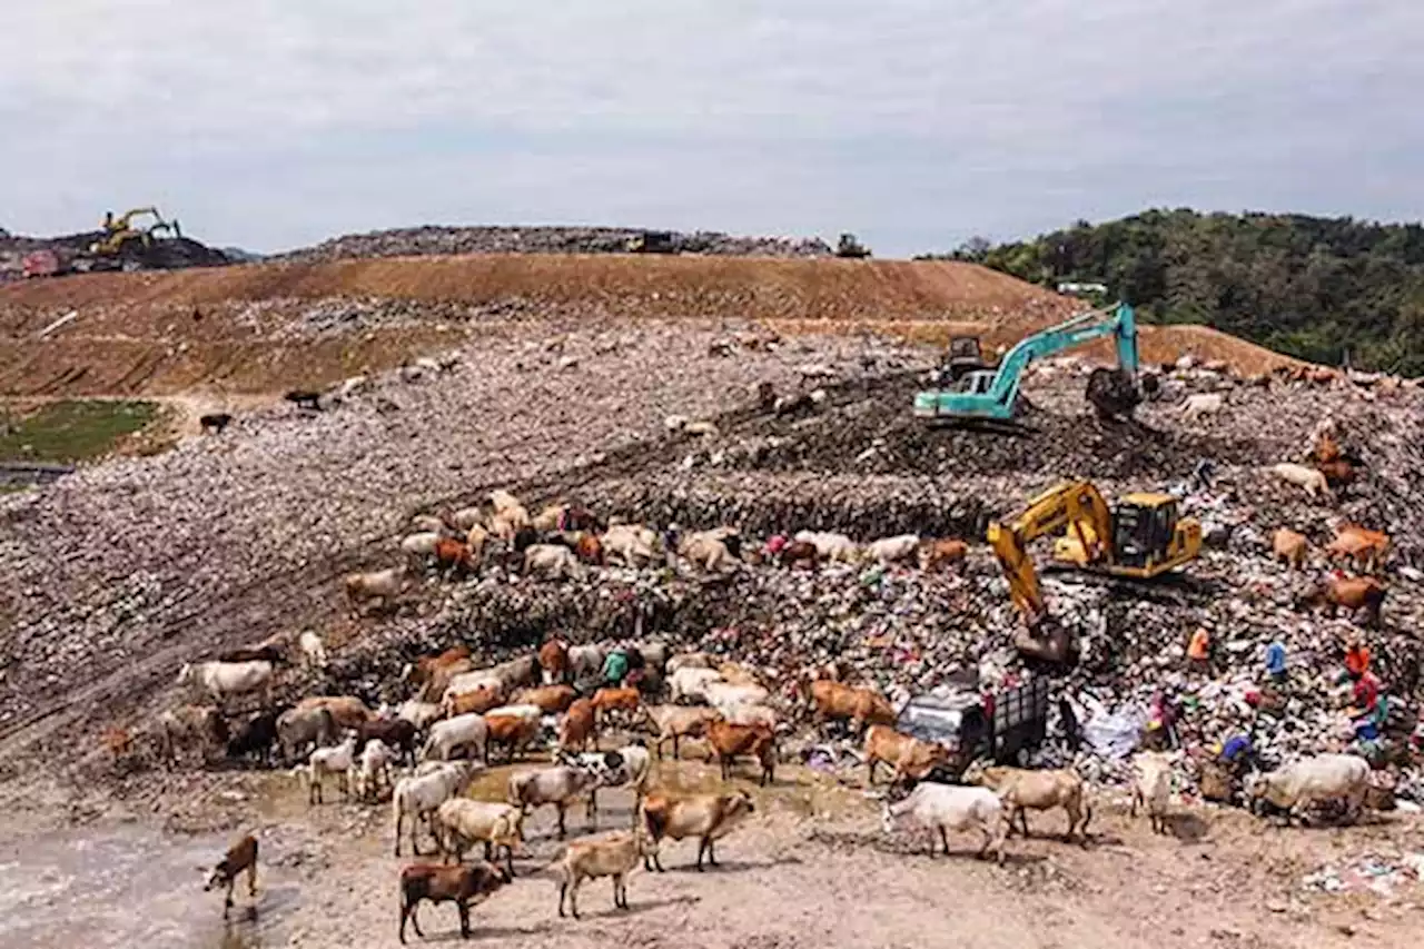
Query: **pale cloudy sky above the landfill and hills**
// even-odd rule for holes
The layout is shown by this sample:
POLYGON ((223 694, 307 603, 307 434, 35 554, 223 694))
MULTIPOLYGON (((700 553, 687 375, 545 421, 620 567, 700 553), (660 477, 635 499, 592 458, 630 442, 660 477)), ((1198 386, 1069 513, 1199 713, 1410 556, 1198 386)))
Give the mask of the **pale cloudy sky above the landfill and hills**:
MULTIPOLYGON (((420 224, 1424 217, 1417 0, 31 0, 0 227, 157 204, 273 252, 420 224)), ((13 9, 11 9, 13 7, 13 9)))

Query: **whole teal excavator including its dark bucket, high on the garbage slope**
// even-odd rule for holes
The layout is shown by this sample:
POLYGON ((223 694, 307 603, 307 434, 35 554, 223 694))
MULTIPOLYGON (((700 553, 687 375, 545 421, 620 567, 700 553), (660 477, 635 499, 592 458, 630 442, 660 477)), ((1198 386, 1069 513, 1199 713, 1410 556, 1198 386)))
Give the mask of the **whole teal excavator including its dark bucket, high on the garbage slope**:
MULTIPOLYGON (((917 393, 914 415, 948 422, 1011 422, 1024 369, 1030 362, 1108 336, 1116 342, 1118 366, 1094 369, 1088 376, 1087 395, 1101 416, 1124 419, 1142 400, 1136 383, 1138 325, 1126 304, 1079 313, 1020 339, 997 369, 977 369, 960 376, 947 389, 917 393)), ((937 376, 948 382, 944 375, 937 376)))

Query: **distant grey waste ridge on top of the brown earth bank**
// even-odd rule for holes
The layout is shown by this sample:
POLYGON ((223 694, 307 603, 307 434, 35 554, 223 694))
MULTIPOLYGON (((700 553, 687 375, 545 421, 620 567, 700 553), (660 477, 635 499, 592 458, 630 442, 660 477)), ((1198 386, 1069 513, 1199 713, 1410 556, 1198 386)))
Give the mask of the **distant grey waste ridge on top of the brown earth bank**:
MULTIPOLYGON (((276 262, 316 264, 376 256, 440 254, 627 254, 648 238, 642 228, 580 227, 422 227, 373 231, 323 241, 316 247, 276 254, 276 262)), ((733 237, 715 231, 662 232, 669 249, 718 256, 833 256, 819 238, 733 237)))

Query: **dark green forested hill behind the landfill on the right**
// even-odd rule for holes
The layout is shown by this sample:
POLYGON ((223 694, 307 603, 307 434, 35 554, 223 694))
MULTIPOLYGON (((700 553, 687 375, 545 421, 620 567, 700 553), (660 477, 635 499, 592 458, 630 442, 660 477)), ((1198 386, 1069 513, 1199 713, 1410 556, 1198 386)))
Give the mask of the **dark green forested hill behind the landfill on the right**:
POLYGON ((951 255, 1047 286, 1101 282, 1153 322, 1206 323, 1302 359, 1424 375, 1424 227, 1148 211, 951 255))

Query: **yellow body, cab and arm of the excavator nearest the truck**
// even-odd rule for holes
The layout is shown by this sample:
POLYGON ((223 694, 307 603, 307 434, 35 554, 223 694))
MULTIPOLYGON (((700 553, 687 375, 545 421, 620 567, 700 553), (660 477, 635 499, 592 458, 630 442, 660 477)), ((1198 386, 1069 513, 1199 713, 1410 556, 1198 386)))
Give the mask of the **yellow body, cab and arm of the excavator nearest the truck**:
POLYGON ((1030 630, 1044 618, 1045 608, 1028 544, 1059 533, 1054 560, 1138 580, 1180 567, 1202 550, 1202 524, 1182 517, 1171 494, 1126 494, 1109 509, 1089 482, 1051 487, 1008 523, 988 526, 988 543, 1030 630))

